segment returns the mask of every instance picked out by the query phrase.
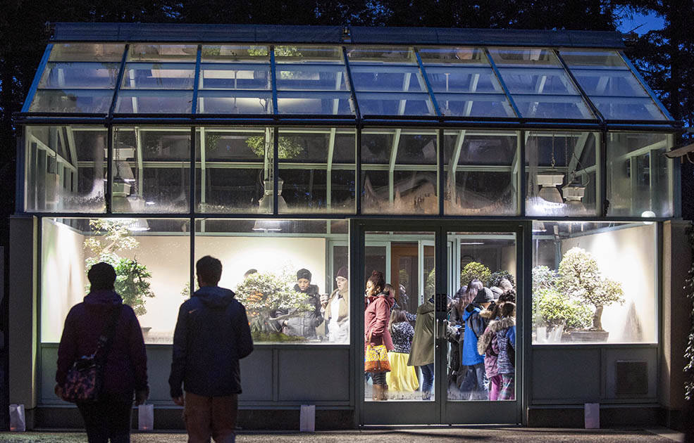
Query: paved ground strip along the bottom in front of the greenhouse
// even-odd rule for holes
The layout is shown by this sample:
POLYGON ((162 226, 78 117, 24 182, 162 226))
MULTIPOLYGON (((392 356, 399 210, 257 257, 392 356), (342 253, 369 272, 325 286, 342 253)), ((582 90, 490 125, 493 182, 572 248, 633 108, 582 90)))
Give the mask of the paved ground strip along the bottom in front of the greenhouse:
MULTIPOLYGON (((0 432, 4 443, 77 443, 86 442, 81 432, 0 432)), ((132 443, 185 443, 182 433, 135 433, 132 443)), ((501 442, 501 443, 673 443, 683 436, 670 430, 581 430, 533 428, 419 428, 397 430, 353 430, 298 434, 285 432, 247 432, 238 435, 239 443, 420 443, 420 442, 501 442)))

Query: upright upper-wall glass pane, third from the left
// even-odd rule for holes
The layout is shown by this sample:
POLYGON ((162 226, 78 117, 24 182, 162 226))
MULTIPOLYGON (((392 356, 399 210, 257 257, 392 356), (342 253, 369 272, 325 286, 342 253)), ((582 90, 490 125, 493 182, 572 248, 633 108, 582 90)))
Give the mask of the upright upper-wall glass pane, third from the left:
POLYGON ((272 153, 270 128, 197 129, 196 211, 271 214, 272 153))

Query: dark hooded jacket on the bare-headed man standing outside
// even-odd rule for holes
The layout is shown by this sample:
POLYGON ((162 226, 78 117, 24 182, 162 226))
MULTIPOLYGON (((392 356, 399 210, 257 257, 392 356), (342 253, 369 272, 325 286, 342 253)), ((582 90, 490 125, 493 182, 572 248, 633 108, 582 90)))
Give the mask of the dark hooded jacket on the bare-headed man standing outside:
POLYGON ((253 351, 246 309, 231 290, 204 286, 181 304, 173 333, 171 397, 241 393, 239 359, 253 351))

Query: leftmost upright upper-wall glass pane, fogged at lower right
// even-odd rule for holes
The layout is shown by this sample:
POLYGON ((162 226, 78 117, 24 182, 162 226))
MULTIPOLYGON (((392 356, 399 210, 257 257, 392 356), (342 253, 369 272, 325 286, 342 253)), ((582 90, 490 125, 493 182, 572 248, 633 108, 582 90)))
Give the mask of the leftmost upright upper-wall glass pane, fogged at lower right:
POLYGON ((26 127, 25 210, 104 212, 107 138, 99 127, 26 127))

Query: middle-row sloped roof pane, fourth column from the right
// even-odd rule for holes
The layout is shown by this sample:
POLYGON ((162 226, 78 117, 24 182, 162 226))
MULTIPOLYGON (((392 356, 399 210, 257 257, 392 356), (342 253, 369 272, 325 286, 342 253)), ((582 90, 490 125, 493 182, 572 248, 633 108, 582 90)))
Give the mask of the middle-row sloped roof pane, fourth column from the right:
POLYGON ((351 65, 356 91, 426 92, 419 66, 351 65))

